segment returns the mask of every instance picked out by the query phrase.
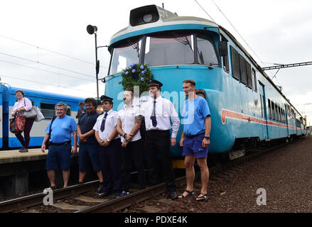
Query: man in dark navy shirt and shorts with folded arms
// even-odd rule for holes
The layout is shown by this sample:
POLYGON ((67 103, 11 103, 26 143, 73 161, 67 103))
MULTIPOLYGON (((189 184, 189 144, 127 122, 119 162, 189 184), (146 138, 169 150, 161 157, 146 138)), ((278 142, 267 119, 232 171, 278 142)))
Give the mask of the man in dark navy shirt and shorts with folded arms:
POLYGON ((95 130, 93 126, 97 122, 97 101, 93 98, 85 99, 85 106, 87 112, 80 116, 77 124, 77 133, 79 135, 79 182, 85 181, 85 175, 87 173, 89 160, 92 162, 92 167, 97 172, 99 177, 99 189, 98 192, 102 192, 103 177, 101 167, 99 165, 99 145, 95 138, 95 130))

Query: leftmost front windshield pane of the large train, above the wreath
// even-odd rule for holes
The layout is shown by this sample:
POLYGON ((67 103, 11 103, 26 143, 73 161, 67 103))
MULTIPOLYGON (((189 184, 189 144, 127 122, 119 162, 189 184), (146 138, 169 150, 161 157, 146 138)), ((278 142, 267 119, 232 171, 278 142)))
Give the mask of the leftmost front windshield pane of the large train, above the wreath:
POLYGON ((109 68, 109 74, 121 72, 132 63, 139 62, 141 55, 141 39, 132 38, 119 43, 112 52, 112 63, 109 68))

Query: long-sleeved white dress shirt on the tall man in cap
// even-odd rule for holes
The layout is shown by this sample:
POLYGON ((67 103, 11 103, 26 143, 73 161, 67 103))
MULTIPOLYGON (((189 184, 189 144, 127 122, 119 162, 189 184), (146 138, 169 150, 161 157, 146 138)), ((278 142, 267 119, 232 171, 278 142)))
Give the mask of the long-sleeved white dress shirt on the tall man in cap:
POLYGON ((176 138, 178 134, 178 129, 180 126, 180 119, 176 112, 176 109, 173 106, 173 103, 168 99, 163 99, 161 96, 158 96, 157 99, 149 99, 141 108, 142 114, 144 114, 145 118, 145 126, 146 131, 150 130, 161 130, 166 131, 172 128, 171 138, 176 138), (157 125, 154 127, 151 121, 151 114, 154 109, 154 101, 155 104, 155 116, 157 125), (170 119, 172 121, 172 127, 170 123, 170 119))

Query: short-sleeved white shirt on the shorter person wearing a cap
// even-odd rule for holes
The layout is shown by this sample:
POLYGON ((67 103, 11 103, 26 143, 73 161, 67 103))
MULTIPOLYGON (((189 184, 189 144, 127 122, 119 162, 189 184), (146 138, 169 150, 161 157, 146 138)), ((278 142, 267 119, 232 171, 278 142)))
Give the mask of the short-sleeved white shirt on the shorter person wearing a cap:
MULTIPOLYGON (((95 131, 99 132, 99 138, 101 140, 107 140, 109 138, 109 135, 112 135, 114 128, 117 126, 118 112, 113 111, 112 109, 107 112, 105 128, 104 128, 104 131, 101 131, 101 125, 102 125, 102 120, 104 118, 104 115, 105 115, 105 112, 97 117, 97 122, 95 123, 95 126, 93 127, 95 131)), ((120 138, 119 134, 114 139, 117 139, 117 138, 120 138)))

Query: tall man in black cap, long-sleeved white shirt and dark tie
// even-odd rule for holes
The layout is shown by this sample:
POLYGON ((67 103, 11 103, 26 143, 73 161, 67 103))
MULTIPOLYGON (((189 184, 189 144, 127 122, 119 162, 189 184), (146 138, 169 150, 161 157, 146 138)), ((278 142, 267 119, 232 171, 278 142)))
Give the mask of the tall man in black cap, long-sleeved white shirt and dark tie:
POLYGON ((163 84, 155 79, 149 81, 151 99, 142 108, 146 125, 146 159, 149 166, 149 181, 152 185, 157 184, 156 160, 159 153, 169 197, 176 199, 176 182, 171 164, 170 145, 172 147, 176 145, 180 119, 173 103, 161 97, 161 86, 163 84))

